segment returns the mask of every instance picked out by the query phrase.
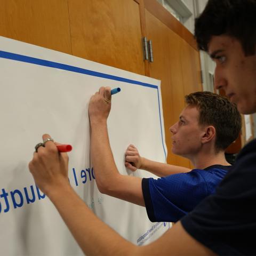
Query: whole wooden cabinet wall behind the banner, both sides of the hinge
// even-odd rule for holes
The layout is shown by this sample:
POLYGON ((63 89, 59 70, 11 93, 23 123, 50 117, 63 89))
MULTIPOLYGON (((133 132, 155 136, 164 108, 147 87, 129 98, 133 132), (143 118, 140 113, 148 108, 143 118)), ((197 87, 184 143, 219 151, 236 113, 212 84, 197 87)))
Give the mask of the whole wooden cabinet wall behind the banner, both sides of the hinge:
POLYGON ((202 90, 193 35, 156 0, 0 0, 0 35, 73 54, 162 81, 167 162, 169 127, 184 95, 202 90), (143 61, 142 37, 153 42, 154 62, 143 61))

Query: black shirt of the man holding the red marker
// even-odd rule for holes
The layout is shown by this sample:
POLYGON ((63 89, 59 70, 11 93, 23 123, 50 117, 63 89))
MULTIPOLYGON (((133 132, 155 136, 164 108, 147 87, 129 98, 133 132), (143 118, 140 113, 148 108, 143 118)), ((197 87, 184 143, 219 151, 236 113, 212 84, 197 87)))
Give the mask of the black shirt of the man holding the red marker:
POLYGON ((256 140, 246 145, 216 189, 181 219, 198 242, 220 255, 256 255, 256 140))

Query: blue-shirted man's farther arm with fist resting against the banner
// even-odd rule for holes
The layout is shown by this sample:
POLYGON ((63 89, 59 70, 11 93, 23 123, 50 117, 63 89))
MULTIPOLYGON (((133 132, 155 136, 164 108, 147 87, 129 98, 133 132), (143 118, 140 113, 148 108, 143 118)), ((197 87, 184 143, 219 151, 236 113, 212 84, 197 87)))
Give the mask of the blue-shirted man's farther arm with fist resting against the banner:
POLYGON ((133 145, 130 145, 125 152, 125 166, 133 172, 137 169, 142 169, 151 172, 158 177, 166 177, 175 173, 191 171, 191 169, 186 167, 159 163, 141 157, 138 149, 133 145))

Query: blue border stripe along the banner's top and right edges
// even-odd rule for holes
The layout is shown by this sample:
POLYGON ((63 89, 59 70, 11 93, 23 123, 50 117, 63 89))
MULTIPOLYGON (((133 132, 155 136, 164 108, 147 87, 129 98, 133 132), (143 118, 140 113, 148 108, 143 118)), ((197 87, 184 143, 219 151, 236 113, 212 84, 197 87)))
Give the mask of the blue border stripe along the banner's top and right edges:
MULTIPOLYGON (((58 68, 58 69, 62 69, 62 70, 67 70, 67 71, 71 71, 71 72, 76 72, 76 73, 89 75, 89 76, 97 76, 97 77, 101 77, 101 78, 105 78, 105 79, 111 79, 111 80, 130 83, 130 84, 138 84, 138 85, 141 85, 141 86, 146 86, 146 87, 157 89, 158 110, 159 110, 159 118, 160 118, 160 125, 161 125, 162 143, 163 143, 163 148, 164 148, 158 86, 148 84, 148 83, 142 83, 142 82, 139 82, 139 81, 135 81, 135 80, 132 80, 132 79, 127 79, 127 78, 123 78, 123 77, 119 77, 119 76, 108 75, 108 74, 100 73, 100 72, 97 72, 97 71, 92 71, 92 70, 89 70, 89 69, 78 68, 78 67, 74 67, 74 66, 54 62, 54 61, 33 58, 33 57, 29 57, 29 56, 25 56, 25 55, 21 55, 21 54, 17 54, 17 53, 0 51, 0 58, 10 59, 10 60, 17 60, 17 61, 31 63, 31 64, 44 66, 44 67, 58 68)), ((164 148, 164 154, 165 154, 165 159, 166 159, 165 148, 164 148)))

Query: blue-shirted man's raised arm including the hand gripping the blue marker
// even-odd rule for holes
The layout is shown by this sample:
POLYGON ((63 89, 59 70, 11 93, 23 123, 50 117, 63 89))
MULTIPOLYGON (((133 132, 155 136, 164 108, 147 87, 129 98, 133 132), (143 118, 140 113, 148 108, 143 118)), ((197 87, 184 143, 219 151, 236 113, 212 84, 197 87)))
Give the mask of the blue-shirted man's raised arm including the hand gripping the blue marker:
POLYGON ((91 157, 97 186, 103 194, 145 206, 141 178, 121 175, 114 162, 107 131, 110 108, 110 87, 101 87, 89 104, 91 157))

